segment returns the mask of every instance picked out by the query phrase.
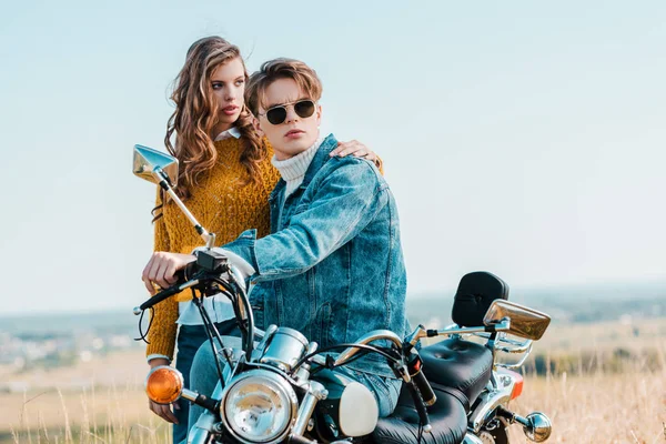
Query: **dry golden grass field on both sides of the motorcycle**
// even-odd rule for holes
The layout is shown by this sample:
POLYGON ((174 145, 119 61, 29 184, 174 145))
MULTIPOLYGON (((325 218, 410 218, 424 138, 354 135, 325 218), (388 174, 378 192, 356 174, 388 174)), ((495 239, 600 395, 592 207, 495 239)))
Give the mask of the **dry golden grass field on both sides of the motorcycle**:
MULTIPOLYGON (((523 415, 546 413, 554 424, 551 443, 666 443, 663 325, 663 320, 644 323, 642 329, 649 334, 638 336, 634 327, 617 324, 554 326, 534 354, 547 350, 556 356, 573 349, 574 356, 583 356, 593 350, 596 364, 581 357, 575 375, 527 374, 512 410, 523 415), (608 335, 614 341, 606 341, 608 335), (618 346, 629 352, 629 359, 620 367, 605 366, 604 356, 612 356, 618 346), (656 356, 656 365, 639 359, 645 350, 656 356)), ((29 381, 34 389, 0 394, 0 443, 168 443, 169 427, 147 408, 140 387, 144 372, 142 352, 135 351, 39 374, 3 374, 3 380, 29 381), (91 384, 72 389, 77 380, 91 384), (67 381, 69 389, 59 391, 59 381, 67 381)), ((513 444, 528 442, 517 425, 512 428, 513 444)))

